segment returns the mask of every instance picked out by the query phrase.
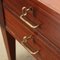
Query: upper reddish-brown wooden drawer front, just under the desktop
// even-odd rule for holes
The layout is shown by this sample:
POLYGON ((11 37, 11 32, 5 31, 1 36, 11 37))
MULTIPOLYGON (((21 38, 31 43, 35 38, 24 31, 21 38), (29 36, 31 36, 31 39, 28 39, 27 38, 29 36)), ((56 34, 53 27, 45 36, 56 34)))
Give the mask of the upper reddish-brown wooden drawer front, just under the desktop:
MULTIPOLYGON (((28 14, 28 18, 34 24, 38 24, 39 27, 34 29, 38 34, 41 33, 45 37, 47 37, 50 42, 55 44, 60 48, 60 15, 55 11, 49 9, 42 3, 37 1, 30 0, 4 0, 4 5, 6 4, 11 8, 18 16, 22 13, 22 7, 25 6, 27 8, 32 7, 34 11, 34 16, 32 14, 28 14)), ((5 6, 6 7, 6 6, 5 6)), ((29 22, 30 22, 29 21, 29 22)), ((32 29, 33 30, 33 29, 32 29)))

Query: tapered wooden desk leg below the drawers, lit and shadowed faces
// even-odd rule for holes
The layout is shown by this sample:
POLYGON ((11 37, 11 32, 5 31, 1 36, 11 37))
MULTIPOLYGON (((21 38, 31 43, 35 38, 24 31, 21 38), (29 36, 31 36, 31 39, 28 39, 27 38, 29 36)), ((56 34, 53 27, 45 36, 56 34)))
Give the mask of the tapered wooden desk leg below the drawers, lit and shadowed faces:
POLYGON ((1 30, 8 55, 8 60, 16 60, 16 40, 2 26, 1 30))

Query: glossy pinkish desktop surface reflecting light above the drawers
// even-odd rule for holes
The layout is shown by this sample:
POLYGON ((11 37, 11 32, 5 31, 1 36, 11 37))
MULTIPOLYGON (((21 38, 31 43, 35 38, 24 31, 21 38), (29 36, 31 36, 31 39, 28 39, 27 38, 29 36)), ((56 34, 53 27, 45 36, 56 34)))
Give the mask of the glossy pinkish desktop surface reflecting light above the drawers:
POLYGON ((46 6, 48 6, 49 8, 55 10, 57 13, 60 13, 60 0, 37 0, 38 2, 41 2, 43 4, 45 4, 46 6))

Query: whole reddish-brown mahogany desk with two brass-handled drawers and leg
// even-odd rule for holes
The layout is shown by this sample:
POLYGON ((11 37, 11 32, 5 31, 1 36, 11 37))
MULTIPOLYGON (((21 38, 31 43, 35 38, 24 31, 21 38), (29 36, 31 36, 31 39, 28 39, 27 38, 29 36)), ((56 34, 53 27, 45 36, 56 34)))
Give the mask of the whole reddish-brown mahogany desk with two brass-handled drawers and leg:
POLYGON ((3 0, 0 8, 9 60, 16 60, 15 39, 36 60, 60 60, 59 0, 3 0))

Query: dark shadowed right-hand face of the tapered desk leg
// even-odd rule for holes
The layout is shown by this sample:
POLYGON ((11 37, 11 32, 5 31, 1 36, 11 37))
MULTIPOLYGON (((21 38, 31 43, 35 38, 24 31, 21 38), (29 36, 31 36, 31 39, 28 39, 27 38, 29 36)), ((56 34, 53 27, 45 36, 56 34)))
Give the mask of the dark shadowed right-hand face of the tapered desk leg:
POLYGON ((8 32, 6 32, 6 35, 7 35, 7 42, 8 42, 8 46, 9 46, 11 60, 16 60, 15 39, 8 32))

